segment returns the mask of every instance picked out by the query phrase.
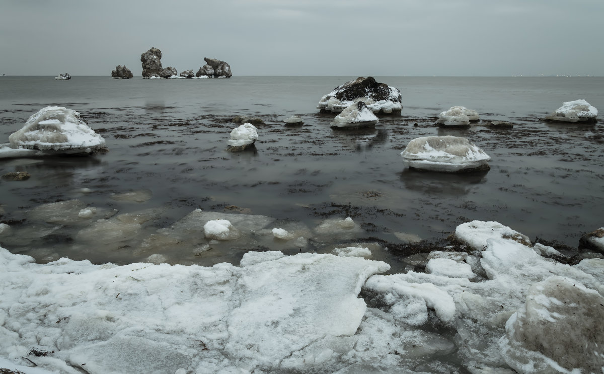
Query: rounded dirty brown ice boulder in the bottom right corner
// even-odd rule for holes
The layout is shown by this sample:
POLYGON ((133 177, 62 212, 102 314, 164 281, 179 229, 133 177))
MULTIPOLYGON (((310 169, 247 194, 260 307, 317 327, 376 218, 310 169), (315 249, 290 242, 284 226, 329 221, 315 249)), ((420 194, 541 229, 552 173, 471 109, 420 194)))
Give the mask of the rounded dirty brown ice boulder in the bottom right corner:
POLYGON ((518 373, 600 373, 604 368, 604 297, 577 280, 553 276, 528 289, 500 340, 518 373))

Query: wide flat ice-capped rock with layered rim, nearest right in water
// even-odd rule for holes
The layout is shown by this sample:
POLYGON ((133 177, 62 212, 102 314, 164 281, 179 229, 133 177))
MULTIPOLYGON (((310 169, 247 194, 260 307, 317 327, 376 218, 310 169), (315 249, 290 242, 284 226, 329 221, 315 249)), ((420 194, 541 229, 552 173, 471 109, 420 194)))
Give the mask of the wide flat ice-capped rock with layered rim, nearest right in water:
POLYGON ((411 140, 400 153, 403 162, 414 169, 434 172, 489 170, 490 156, 466 138, 423 137, 411 140))

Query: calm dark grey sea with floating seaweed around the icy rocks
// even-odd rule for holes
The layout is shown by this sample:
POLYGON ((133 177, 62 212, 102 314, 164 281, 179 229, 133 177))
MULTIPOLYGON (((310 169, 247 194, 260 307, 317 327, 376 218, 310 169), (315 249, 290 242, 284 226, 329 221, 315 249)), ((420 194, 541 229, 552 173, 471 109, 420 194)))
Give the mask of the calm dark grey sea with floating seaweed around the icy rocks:
MULTIPOLYGON (((382 117, 371 130, 333 131, 333 116, 318 114, 316 105, 354 78, 0 77, 0 143, 39 109, 60 105, 80 112, 110 150, 90 158, 0 160, 2 174, 32 175, 0 182, 0 221, 39 227, 28 210, 77 198, 120 212, 163 207, 152 230, 193 208, 224 211, 231 205, 309 227, 351 216, 365 237, 388 242, 399 240, 395 233, 439 239, 462 222, 480 219, 576 247, 582 233, 604 225, 604 126, 541 120, 578 98, 604 110, 604 78, 376 77, 400 89, 402 114, 382 117), (435 126, 435 116, 454 105, 477 110, 481 120, 469 129, 435 126), (292 114, 303 117, 304 126, 284 126, 292 114), (226 152, 229 133, 238 126, 231 121, 235 115, 265 121, 258 126, 256 152, 226 152), (490 120, 515 127, 495 130, 490 120), (492 157, 492 169, 478 175, 406 170, 399 153, 411 139, 428 135, 469 138, 492 157), (139 190, 152 198, 111 198, 139 190)), ((43 246, 74 259, 138 260, 101 250, 73 253, 68 239, 22 245, 12 239, 3 245, 39 260, 46 252, 37 255, 33 248, 43 246)))

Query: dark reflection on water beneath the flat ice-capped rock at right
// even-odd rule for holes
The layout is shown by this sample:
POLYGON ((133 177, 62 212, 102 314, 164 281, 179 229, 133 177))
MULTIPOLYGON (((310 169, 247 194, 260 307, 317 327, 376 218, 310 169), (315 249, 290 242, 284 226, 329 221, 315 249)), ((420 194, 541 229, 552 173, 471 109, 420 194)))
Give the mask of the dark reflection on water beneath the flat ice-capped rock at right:
POLYGON ((426 195, 463 196, 476 185, 487 181, 488 171, 472 173, 439 173, 405 169, 400 173, 400 181, 405 188, 426 195))

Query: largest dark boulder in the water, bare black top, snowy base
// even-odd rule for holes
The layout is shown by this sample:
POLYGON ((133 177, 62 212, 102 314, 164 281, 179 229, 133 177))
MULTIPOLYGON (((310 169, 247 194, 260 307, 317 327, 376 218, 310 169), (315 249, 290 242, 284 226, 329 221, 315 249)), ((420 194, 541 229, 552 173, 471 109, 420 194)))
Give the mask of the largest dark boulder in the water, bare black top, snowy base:
POLYGON ((344 83, 324 95, 318 105, 321 112, 341 112, 360 99, 374 113, 400 114, 402 104, 400 91, 378 83, 373 77, 358 77, 344 83))

